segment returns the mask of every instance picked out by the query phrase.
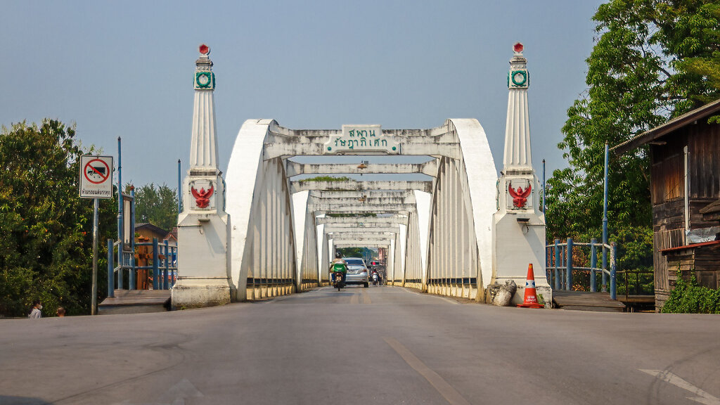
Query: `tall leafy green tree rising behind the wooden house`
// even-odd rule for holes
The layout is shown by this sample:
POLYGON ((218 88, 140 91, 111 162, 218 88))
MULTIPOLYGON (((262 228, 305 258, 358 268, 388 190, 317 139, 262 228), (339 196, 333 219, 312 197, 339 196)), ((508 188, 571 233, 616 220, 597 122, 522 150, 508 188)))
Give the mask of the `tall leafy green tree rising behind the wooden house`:
MULTIPOLYGON (((719 10, 703 0, 611 0, 598 8, 588 90, 567 110, 558 145, 569 167, 547 182, 548 239, 600 236, 606 143, 720 97, 719 10)), ((608 220, 622 270, 652 267, 649 172, 647 147, 611 155, 608 220)))

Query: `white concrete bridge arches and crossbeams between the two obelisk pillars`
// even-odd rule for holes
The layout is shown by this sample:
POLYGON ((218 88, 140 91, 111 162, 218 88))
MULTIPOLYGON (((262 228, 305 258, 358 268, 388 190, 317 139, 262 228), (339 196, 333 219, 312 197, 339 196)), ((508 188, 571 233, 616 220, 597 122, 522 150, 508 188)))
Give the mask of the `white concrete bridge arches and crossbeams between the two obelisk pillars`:
POLYGON ((401 158, 391 164, 299 163, 291 158, 337 149, 338 141, 332 141, 343 131, 291 130, 274 120, 243 124, 225 176, 238 300, 323 285, 333 249, 343 246, 387 248, 392 284, 484 298, 483 282, 492 277, 498 178, 482 126, 472 119, 447 120, 438 128, 378 135, 386 149, 331 152, 432 159, 422 164, 401 158), (301 179, 318 174, 355 178, 301 179), (422 174, 425 179, 382 181, 357 174, 422 174), (377 216, 333 216, 364 213, 377 216))

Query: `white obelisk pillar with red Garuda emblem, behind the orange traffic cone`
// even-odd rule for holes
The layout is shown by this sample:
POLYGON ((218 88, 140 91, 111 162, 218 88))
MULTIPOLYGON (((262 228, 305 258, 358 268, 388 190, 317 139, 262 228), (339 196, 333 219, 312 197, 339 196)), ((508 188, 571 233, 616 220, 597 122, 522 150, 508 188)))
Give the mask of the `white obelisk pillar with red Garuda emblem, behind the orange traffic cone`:
POLYGON ((533 264, 538 299, 552 303, 552 289, 545 275, 545 215, 539 204, 539 184, 530 156, 528 85, 530 76, 523 44, 513 47, 508 72, 508 121, 505 128, 503 172, 498 179, 498 212, 492 218, 492 280, 514 280, 518 291, 512 303, 522 303, 533 264))

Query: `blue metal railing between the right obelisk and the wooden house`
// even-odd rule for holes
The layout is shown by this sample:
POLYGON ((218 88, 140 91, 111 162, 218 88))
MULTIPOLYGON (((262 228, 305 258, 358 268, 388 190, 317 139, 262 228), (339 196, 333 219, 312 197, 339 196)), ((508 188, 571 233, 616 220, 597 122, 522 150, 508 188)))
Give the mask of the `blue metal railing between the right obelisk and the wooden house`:
POLYGON ((602 278, 602 290, 608 290, 608 279, 610 285, 610 298, 616 299, 616 273, 617 273, 617 244, 598 243, 592 239, 590 243, 577 243, 568 238, 561 243, 555 239, 554 244, 545 246, 547 280, 555 290, 574 290, 580 283, 573 279, 573 272, 576 274, 589 274, 589 287, 591 292, 596 292, 597 276, 602 278), (598 265, 598 253, 603 254, 603 259, 598 265), (609 261, 606 254, 609 253, 609 261), (575 262, 582 262, 585 266, 576 266, 575 262), (588 263, 589 262, 589 263, 588 263), (587 264, 590 264, 589 267, 587 264))

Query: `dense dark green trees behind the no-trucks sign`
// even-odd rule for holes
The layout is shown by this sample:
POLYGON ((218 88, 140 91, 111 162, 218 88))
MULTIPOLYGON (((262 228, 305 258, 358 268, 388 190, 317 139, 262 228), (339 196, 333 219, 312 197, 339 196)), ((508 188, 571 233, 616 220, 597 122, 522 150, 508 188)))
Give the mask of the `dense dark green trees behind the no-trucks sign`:
MULTIPOLYGON (((57 120, 0 132, 0 316, 26 316, 35 299, 45 316, 58 306, 90 313, 93 203, 78 197, 78 181, 80 156, 94 151, 74 136, 75 128, 57 120)), ((116 230, 117 201, 99 206, 102 257, 103 241, 116 230)))

